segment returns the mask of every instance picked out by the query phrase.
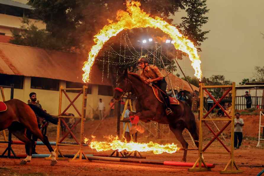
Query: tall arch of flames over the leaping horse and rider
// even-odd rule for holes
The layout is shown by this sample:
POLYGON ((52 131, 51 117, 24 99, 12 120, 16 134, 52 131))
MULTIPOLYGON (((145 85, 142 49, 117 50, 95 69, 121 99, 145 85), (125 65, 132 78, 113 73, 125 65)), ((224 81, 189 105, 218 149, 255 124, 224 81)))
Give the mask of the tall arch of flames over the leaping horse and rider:
POLYGON ((200 67, 200 59, 197 53, 197 49, 194 44, 184 37, 178 29, 162 20, 160 17, 149 17, 149 14, 140 9, 140 2, 127 1, 126 12, 123 10, 117 11, 117 22, 108 20, 110 24, 105 25, 99 33, 94 36, 95 45, 91 47, 91 51, 88 53, 88 61, 84 62, 83 81, 90 81, 91 68, 94 64, 95 57, 98 55, 100 49, 102 49, 105 42, 107 42, 112 36, 116 36, 119 32, 133 28, 160 28, 164 33, 168 34, 172 40, 175 41, 174 47, 189 55, 191 65, 195 70, 194 76, 198 79, 202 77, 202 71, 200 67))

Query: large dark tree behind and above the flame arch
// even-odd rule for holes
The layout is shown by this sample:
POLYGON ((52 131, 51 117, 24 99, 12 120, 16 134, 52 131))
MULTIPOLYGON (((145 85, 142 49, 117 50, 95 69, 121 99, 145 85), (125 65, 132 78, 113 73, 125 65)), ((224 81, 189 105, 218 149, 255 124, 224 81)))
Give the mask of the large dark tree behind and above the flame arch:
MULTIPOLYGON (((171 23, 171 15, 175 15, 179 10, 184 9, 187 12, 187 17, 183 17, 183 21, 178 25, 179 30, 191 41, 195 46, 199 47, 201 43, 207 39, 205 35, 209 31, 202 31, 202 25, 207 23, 208 18, 204 15, 209 11, 205 0, 139 0, 141 9, 151 14, 152 17, 160 16, 164 20, 171 23)), ((94 44, 93 36, 108 24, 108 19, 115 21, 117 10, 125 10, 124 3, 126 0, 29 0, 29 4, 34 7, 33 13, 44 23, 46 30, 51 33, 51 36, 59 43, 63 44, 61 49, 72 50, 78 49, 83 53, 87 53, 94 44)), ((97 58, 102 60, 103 55, 109 50, 109 47, 115 51, 124 51, 125 44, 120 44, 120 38, 127 31, 120 32, 117 36, 112 37, 99 52, 97 58)), ((127 32, 131 43, 137 44, 140 36, 156 36, 168 37, 159 29, 139 28, 132 29, 127 32)), ((135 46, 135 49, 140 53, 141 46, 135 46)), ((174 49, 175 50, 175 49, 174 49)), ((201 51, 198 48, 198 51, 201 51)), ((182 58, 185 55, 181 51, 177 51, 177 57, 182 58)), ((122 54, 122 53, 121 53, 122 54)), ((128 53, 126 53, 127 55, 128 53)), ((133 56, 130 53, 128 56, 133 56)), ((169 59, 174 58, 175 55, 169 59)), ((120 57, 111 55, 111 62, 117 63, 120 57)), ((107 64, 107 63, 99 63, 107 64)), ((134 67, 135 63, 128 65, 120 65, 119 67, 134 67)), ((114 66, 114 65, 112 65, 114 66)), ((110 65, 110 67, 112 67, 110 65)), ((112 80, 115 78, 116 69, 110 68, 112 80)), ((114 79, 115 80, 115 79, 114 79)), ((115 84, 113 84, 115 85, 115 84)))

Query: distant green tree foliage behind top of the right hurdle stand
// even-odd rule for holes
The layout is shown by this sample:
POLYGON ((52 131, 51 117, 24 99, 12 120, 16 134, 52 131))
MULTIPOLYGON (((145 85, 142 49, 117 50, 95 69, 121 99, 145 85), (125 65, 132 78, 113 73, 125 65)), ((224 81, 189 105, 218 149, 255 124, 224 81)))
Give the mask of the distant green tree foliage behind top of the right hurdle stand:
MULTIPOLYGON (((209 79, 203 77, 202 83, 205 83, 205 85, 210 85, 210 86, 231 85, 232 84, 231 81, 225 80, 225 76, 223 76, 223 75, 212 75, 209 79)), ((208 89, 208 90, 215 97, 220 97, 223 95, 223 89, 221 89, 221 88, 214 88, 214 89, 208 89)))

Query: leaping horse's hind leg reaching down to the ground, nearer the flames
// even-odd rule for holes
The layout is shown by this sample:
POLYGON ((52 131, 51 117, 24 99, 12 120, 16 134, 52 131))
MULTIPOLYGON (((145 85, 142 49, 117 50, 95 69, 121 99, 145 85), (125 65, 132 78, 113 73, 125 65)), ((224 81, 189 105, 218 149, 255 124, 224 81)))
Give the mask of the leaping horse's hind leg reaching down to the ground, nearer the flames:
MULTIPOLYGON (((169 127, 170 127, 170 130, 175 135, 175 137, 177 138, 177 140, 181 143, 183 149, 187 149, 188 143, 186 142, 186 140, 183 138, 183 135, 182 135, 183 129, 185 128, 183 123, 178 122, 173 125, 170 124, 169 127)), ((187 156, 187 150, 184 150, 183 158, 181 159, 181 161, 186 162, 186 156, 187 156)))

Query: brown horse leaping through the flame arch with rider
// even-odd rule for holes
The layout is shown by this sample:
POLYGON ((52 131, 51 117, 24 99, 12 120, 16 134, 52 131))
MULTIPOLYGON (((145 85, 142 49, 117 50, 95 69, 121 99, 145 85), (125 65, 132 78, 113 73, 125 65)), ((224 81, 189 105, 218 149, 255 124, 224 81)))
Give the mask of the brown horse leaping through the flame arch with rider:
POLYGON ((189 130, 197 147, 199 145, 198 130, 190 106, 180 101, 179 105, 170 106, 173 114, 167 116, 164 104, 157 100, 152 87, 145 84, 139 75, 128 73, 127 70, 118 80, 118 88, 115 89, 114 99, 120 100, 125 92, 133 92, 137 96, 136 115, 139 116, 141 121, 149 122, 152 120, 160 124, 169 124, 170 130, 183 146, 182 161, 186 162, 188 143, 182 135, 184 128, 189 130))

